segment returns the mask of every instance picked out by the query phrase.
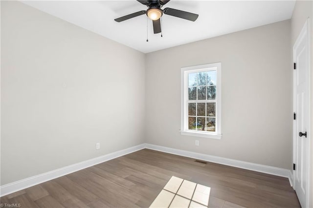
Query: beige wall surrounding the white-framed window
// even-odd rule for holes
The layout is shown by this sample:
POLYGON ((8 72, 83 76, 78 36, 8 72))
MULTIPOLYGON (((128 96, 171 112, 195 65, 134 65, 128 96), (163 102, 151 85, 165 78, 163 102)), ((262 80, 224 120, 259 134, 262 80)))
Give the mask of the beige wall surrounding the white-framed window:
POLYGON ((291 169, 290 36, 288 20, 147 54, 147 143, 291 169), (180 67, 214 62, 223 138, 180 135, 180 67))

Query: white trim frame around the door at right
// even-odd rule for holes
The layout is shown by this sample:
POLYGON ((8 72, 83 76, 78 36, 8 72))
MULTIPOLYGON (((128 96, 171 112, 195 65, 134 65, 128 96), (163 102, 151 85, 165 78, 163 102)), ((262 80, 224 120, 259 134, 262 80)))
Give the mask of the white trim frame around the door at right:
MULTIPOLYGON (((305 21, 302 29, 301 29, 301 32, 300 34, 298 35, 297 37, 297 40, 295 41, 294 45, 293 45, 293 48, 292 48, 292 60, 293 62, 296 62, 295 60, 295 48, 300 44, 300 41, 302 40, 303 36, 307 35, 307 38, 308 38, 308 43, 307 43, 307 47, 308 47, 308 79, 307 79, 307 89, 308 89, 308 110, 309 110, 309 117, 308 117, 308 146, 307 146, 307 152, 308 152, 308 162, 307 162, 307 166, 308 166, 308 173, 307 173, 307 181, 308 181, 308 186, 307 186, 307 190, 306 190, 306 207, 309 206, 309 197, 310 197, 310 194, 311 194, 311 190, 310 190, 310 184, 311 184, 311 163, 312 163, 312 154, 313 152, 311 151, 311 148, 310 148, 310 145, 311 145, 311 132, 310 132, 310 129, 311 129, 311 106, 312 106, 312 95, 311 95, 311 83, 310 83, 310 78, 311 78, 311 63, 310 63, 310 58, 311 58, 311 51, 310 51, 310 24, 309 24, 310 20, 309 18, 305 21)), ((292 64, 293 66, 293 64, 292 64)), ((293 70, 293 112, 297 113, 296 112, 296 70, 292 69, 293 70)), ((298 132, 296 132, 296 120, 293 120, 293 124, 292 124, 292 129, 293 129, 293 132, 292 132, 292 162, 295 163, 295 148, 296 148, 296 145, 295 145, 295 141, 297 139, 297 134, 298 132)), ((293 185, 293 189, 295 189, 295 174, 294 174, 294 170, 291 171, 292 172, 292 185, 293 185)))

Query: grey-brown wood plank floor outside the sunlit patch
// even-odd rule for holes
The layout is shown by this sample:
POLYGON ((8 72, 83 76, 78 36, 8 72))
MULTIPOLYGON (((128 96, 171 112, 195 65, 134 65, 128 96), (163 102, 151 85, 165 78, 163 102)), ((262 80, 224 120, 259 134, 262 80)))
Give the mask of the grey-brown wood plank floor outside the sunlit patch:
POLYGON ((287 178, 143 149, 1 197, 22 208, 149 207, 177 176, 211 187, 210 208, 298 208, 287 178))

